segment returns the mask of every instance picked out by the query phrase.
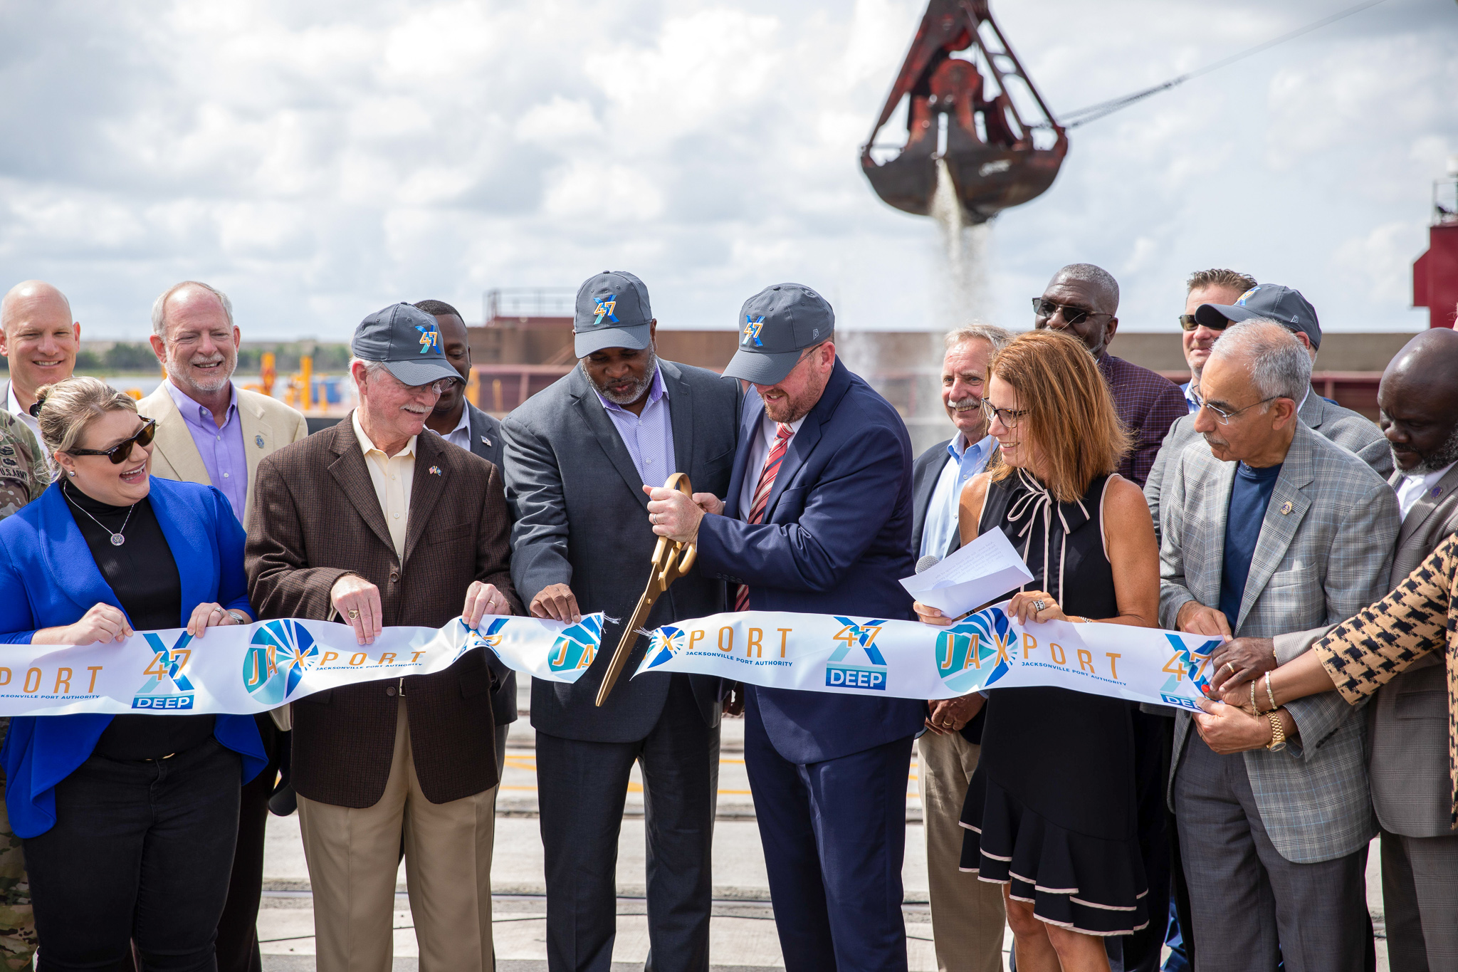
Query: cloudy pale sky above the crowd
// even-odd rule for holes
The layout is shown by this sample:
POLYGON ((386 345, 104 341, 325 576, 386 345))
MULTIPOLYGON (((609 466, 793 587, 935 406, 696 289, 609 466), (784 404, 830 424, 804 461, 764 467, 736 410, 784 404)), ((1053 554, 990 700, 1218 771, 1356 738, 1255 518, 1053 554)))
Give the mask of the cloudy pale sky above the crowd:
MULTIPOLYGON (((1054 112, 1123 95, 1344 0, 994 0, 1054 112)), ((245 338, 344 338, 394 300, 469 321, 488 287, 642 275, 666 326, 760 287, 843 326, 939 319, 939 240, 857 146, 921 0, 235 0, 0 6, 0 280, 140 340, 195 277, 245 338)), ((1026 326, 1073 261, 1124 328, 1172 328, 1191 270, 1299 287, 1331 329, 1417 329, 1410 265, 1458 154, 1458 4, 1387 0, 1072 133, 1003 214, 965 316, 1026 326)), ((9 286, 9 284, 6 284, 9 286)))

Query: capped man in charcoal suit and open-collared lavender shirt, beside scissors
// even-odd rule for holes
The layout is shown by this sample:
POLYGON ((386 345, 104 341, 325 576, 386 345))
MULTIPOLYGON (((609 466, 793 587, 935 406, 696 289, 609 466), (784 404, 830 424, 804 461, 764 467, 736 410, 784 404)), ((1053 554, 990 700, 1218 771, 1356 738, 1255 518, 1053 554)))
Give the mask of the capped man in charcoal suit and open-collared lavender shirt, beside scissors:
MULTIPOLYGON (((659 360, 656 326, 637 277, 589 278, 573 321, 579 366, 502 424, 518 590, 538 618, 602 611, 615 619, 582 679, 532 682, 551 972, 611 965, 614 863, 634 761, 647 831, 647 968, 709 969, 720 682, 630 679, 647 644, 640 638, 612 694, 595 705, 658 542, 647 487, 685 472, 695 498, 723 497, 735 456, 738 382, 659 360)), ((723 581, 694 568, 659 596, 644 627, 726 606, 723 581)))

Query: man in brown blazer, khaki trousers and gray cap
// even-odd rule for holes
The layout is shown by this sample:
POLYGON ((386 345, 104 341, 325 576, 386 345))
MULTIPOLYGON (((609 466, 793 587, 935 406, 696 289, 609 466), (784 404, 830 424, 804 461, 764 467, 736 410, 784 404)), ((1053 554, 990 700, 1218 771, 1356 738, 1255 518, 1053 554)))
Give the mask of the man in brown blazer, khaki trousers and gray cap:
MULTIPOLYGON (((260 463, 246 554, 260 618, 347 619, 367 646, 385 625, 522 614, 500 474, 420 434, 459 380, 436 319, 385 307, 353 351, 359 408, 260 463)), ((491 968, 499 672, 475 650, 293 707, 319 972, 388 972, 401 845, 421 972, 491 968)))

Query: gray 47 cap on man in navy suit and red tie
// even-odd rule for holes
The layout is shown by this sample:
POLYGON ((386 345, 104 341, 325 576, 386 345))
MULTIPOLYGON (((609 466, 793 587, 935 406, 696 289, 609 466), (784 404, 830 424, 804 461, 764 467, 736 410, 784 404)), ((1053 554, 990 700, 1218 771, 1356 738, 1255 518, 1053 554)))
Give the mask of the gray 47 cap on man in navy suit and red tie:
POLYGON ((739 350, 725 375, 754 385, 784 380, 800 351, 835 332, 835 312, 805 284, 774 284, 739 307, 739 350))

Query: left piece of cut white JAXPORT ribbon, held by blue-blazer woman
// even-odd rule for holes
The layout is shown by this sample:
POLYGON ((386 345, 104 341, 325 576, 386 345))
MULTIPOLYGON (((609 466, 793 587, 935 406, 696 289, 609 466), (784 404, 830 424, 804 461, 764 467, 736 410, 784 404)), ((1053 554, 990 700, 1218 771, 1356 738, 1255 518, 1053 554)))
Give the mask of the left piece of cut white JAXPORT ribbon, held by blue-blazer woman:
POLYGON ((487 615, 477 628, 385 628, 359 644, 327 621, 260 621, 139 631, 120 643, 0 646, 0 716, 73 713, 232 713, 277 708, 315 692, 376 679, 443 672, 488 648, 532 678, 576 682, 602 640, 602 615, 577 624, 487 615))

